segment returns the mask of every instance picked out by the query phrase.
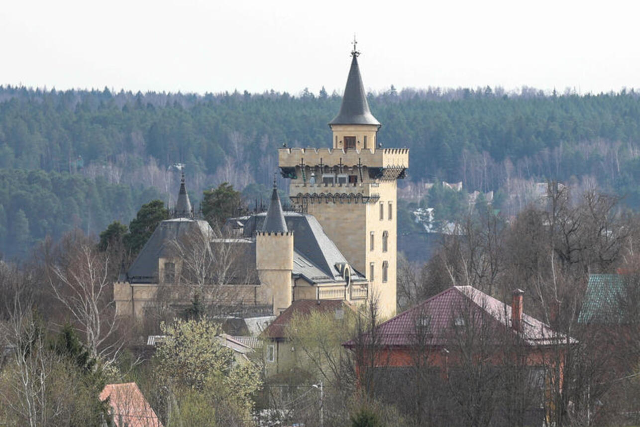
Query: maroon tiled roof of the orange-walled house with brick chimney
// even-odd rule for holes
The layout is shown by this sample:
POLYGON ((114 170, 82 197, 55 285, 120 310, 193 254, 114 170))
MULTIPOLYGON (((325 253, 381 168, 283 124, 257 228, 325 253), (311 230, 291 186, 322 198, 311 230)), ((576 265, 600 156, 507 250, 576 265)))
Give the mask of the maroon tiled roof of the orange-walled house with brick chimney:
MULTIPOLYGON (((471 286, 453 286, 412 309, 381 323, 376 329, 376 341, 380 346, 411 346, 418 337, 427 337, 427 344, 441 346, 449 342, 456 327, 483 328, 491 332, 505 330, 515 334, 511 328, 511 306, 471 286), (421 329, 424 328, 424 329, 421 329)), ((548 345, 564 339, 565 335, 554 332, 550 326, 527 314, 522 314, 521 339, 529 345, 548 345)), ((572 342, 575 340, 572 339, 572 342)), ((354 346, 349 341, 346 346, 354 346)))

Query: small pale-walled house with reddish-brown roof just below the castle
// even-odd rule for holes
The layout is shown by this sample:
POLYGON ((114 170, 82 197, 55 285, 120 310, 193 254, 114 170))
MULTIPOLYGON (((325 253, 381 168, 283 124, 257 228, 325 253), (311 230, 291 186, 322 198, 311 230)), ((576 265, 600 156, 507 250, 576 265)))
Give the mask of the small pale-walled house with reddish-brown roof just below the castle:
POLYGON ((330 314, 336 321, 353 311, 353 306, 343 300, 296 300, 284 310, 262 336, 266 341, 265 363, 268 375, 286 373, 296 363, 296 348, 289 342, 287 328, 297 316, 311 316, 314 313, 330 314))

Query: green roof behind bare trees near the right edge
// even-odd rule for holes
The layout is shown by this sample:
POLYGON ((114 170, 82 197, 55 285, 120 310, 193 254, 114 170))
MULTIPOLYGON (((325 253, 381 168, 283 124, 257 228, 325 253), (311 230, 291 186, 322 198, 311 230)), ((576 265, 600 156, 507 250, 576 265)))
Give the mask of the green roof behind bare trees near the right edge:
POLYGON ((619 274, 589 275, 578 323, 620 323, 623 317, 620 298, 625 282, 625 277, 619 274))

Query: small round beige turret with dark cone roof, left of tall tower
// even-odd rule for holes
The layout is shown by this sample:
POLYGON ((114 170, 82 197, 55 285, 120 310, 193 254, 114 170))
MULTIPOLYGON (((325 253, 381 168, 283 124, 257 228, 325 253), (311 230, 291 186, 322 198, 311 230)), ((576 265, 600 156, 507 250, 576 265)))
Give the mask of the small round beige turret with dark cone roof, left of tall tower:
POLYGON ((255 236, 255 266, 261 299, 273 302, 273 314, 280 314, 292 301, 293 232, 287 229, 275 179, 262 231, 255 236))

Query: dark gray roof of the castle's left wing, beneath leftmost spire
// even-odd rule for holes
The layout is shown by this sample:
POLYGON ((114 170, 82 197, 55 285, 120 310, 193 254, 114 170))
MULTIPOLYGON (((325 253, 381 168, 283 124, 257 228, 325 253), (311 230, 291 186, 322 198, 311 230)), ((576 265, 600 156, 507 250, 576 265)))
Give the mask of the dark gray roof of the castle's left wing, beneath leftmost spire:
POLYGON ((211 226, 203 220, 175 218, 161 222, 129 267, 129 283, 157 283, 158 258, 170 256, 170 243, 192 230, 212 234, 211 226))

